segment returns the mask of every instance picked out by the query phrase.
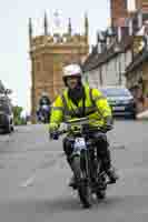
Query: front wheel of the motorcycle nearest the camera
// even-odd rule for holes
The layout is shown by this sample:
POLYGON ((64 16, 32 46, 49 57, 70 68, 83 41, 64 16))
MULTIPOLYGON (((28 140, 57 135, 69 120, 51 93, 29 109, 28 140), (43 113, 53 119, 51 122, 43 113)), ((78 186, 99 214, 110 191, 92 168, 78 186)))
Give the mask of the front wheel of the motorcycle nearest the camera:
POLYGON ((85 174, 81 171, 80 157, 75 157, 72 161, 72 169, 77 180, 77 190, 80 202, 83 208, 90 208, 92 204, 92 195, 89 183, 86 181, 85 174))

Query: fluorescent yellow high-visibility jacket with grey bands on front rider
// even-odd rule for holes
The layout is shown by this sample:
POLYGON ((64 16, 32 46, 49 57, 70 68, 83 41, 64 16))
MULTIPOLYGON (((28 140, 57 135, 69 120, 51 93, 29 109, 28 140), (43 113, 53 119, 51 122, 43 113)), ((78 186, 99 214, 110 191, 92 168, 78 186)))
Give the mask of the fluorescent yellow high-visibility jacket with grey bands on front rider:
MULTIPOLYGON (((85 84, 85 113, 90 120, 91 125, 102 127, 105 119, 111 117, 111 109, 106 97, 98 89, 90 89, 85 84)), ((58 95, 51 108, 50 123, 60 124, 65 120, 71 120, 75 114, 82 110, 82 99, 78 107, 71 101, 68 95, 68 89, 63 90, 61 95, 58 95)))

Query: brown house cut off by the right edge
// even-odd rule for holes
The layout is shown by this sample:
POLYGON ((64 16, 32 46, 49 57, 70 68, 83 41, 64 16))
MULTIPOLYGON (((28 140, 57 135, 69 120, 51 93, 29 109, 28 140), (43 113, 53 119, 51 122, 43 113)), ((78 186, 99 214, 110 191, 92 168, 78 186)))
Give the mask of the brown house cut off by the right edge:
POLYGON ((127 88, 132 92, 138 111, 148 109, 148 24, 144 24, 138 33, 145 46, 134 56, 126 69, 127 88))

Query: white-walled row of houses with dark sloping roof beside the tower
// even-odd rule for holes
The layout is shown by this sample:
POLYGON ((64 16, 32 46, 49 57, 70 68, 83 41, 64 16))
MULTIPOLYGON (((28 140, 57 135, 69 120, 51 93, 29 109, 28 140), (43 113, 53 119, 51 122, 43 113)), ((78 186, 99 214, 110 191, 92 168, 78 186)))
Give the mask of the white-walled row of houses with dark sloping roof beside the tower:
POLYGON ((91 87, 126 84, 125 70, 132 60, 134 41, 128 32, 128 27, 122 30, 119 27, 110 33, 107 30, 98 34, 98 42, 83 63, 83 79, 91 87))

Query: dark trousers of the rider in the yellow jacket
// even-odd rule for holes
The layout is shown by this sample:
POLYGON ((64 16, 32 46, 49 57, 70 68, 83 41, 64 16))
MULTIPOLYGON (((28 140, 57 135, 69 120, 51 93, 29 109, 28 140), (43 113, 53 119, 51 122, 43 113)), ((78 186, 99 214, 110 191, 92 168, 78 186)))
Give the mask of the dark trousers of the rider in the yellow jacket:
MULTIPOLYGON (((96 145, 97 145, 98 159, 101 160, 103 170, 108 171, 111 167, 111 160, 110 160, 110 151, 108 149, 109 143, 107 141, 107 135, 105 133, 97 132, 92 134, 91 138, 95 140, 96 145)), ((63 139, 63 151, 67 155, 67 160, 70 165, 72 161, 71 154, 73 151, 73 145, 72 145, 73 142, 75 142, 75 139, 72 137, 71 138, 66 137, 63 139)))

